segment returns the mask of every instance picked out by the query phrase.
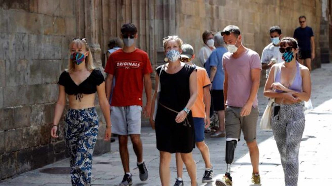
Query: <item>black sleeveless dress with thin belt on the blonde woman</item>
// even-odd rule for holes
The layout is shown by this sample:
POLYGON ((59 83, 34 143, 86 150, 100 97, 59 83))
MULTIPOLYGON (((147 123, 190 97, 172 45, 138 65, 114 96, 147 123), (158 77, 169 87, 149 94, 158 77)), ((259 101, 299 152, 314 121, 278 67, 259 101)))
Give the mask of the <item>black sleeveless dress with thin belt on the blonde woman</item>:
MULTIPOLYGON (((162 65, 156 68, 159 76, 162 65)), ((159 103, 180 112, 185 108, 190 98, 189 77, 196 69, 188 64, 175 74, 168 74, 162 70, 160 75, 161 91, 159 103)), ((189 125, 176 123, 177 113, 158 104, 155 129, 157 149, 169 153, 190 153, 195 148, 195 130, 193 116, 187 116, 189 125)))

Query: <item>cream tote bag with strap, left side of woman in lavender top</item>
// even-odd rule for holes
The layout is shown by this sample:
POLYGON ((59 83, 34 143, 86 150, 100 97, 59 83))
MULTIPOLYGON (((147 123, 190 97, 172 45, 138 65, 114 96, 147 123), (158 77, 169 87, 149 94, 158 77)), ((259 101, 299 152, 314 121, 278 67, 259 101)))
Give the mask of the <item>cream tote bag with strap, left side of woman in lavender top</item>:
MULTIPOLYGON (((274 82, 276 81, 276 74, 281 69, 281 65, 283 63, 280 63, 276 66, 276 69, 274 71, 274 82)), ((270 98, 268 105, 266 106, 261 122, 259 123, 259 126, 262 130, 271 130, 271 112, 272 112, 272 103, 274 102, 275 98, 270 98)))

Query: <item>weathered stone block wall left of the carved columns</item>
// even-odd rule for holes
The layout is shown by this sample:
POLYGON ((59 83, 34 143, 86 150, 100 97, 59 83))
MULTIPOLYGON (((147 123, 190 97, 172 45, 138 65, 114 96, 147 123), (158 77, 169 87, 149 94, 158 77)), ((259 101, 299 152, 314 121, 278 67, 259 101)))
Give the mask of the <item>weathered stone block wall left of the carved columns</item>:
MULTIPOLYGON (((69 43, 77 35, 77 2, 0 3, 0 178, 3 179, 66 155, 63 118, 59 139, 50 138, 50 129, 58 94, 57 80, 68 63, 69 43)), ((101 118, 102 127, 103 122, 101 118)), ((109 144, 102 143, 101 135, 103 132, 98 138, 97 154, 110 150, 109 144)))

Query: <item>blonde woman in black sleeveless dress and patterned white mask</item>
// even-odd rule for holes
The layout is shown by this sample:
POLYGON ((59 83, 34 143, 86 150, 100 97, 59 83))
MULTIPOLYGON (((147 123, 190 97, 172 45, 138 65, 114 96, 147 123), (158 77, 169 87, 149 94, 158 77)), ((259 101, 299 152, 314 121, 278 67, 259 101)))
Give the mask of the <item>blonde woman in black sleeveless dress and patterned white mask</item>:
POLYGON ((160 77, 159 98, 157 89, 152 105, 158 101, 155 122, 151 109, 151 126, 156 129, 157 149, 160 152, 159 174, 161 184, 170 185, 171 153, 181 153, 191 184, 196 186, 196 163, 192 150, 195 147, 195 131, 190 111, 197 97, 197 77, 194 67, 179 60, 182 40, 178 36, 164 38, 165 58, 168 63, 156 68, 156 83, 160 77))

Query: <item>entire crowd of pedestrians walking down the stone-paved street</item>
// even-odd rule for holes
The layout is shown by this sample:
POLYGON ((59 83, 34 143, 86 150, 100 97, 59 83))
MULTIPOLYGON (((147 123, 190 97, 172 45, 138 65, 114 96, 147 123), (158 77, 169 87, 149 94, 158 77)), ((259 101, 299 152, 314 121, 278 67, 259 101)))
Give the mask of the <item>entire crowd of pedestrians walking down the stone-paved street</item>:
POLYGON ((226 172, 215 184, 232 185, 231 164, 241 131, 250 154, 252 184, 260 186, 257 92, 261 70, 265 69, 264 95, 272 102, 268 124, 280 152, 285 184, 296 186, 298 151, 305 123, 303 102, 310 99, 311 60, 315 57, 313 31, 306 26, 304 16, 299 17, 299 23, 293 37, 283 37, 281 28, 272 26, 269 30, 271 43, 264 48, 261 58, 256 51, 244 46, 241 31, 234 25, 216 33, 205 31, 202 34, 204 46, 196 61, 192 45, 183 43, 177 35, 167 36, 163 38, 165 64, 155 69, 153 94, 150 78, 153 69, 148 54, 135 46, 138 38, 135 25, 124 24, 121 40, 110 40, 106 79, 93 66, 86 39, 73 39, 69 46, 68 69, 58 81, 59 96, 51 129, 51 136, 57 138, 68 94, 70 108, 65 117, 65 139, 72 185, 91 185, 92 153, 99 128, 94 105, 97 92, 106 121, 105 140, 110 140, 111 133, 118 136, 124 169, 119 186, 135 181, 129 168, 128 137, 137 158, 140 180, 146 181, 149 177, 140 139, 141 113, 155 129, 163 186, 171 185, 172 154, 177 165, 174 186, 184 185, 183 164, 191 185, 198 185, 192 155, 195 147, 205 162, 201 181, 213 181, 214 167, 204 141, 205 133, 210 133, 209 137, 225 138, 226 172))

